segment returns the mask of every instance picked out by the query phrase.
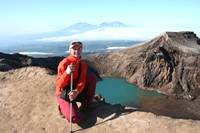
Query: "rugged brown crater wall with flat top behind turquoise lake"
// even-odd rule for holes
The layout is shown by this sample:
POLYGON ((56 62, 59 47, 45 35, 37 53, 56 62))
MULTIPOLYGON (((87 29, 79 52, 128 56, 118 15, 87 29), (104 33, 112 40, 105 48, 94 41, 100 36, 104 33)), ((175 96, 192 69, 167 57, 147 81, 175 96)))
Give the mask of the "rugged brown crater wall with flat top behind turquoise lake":
POLYGON ((165 32, 139 46, 91 55, 88 62, 100 75, 143 89, 190 100, 200 94, 200 39, 193 32, 165 32))

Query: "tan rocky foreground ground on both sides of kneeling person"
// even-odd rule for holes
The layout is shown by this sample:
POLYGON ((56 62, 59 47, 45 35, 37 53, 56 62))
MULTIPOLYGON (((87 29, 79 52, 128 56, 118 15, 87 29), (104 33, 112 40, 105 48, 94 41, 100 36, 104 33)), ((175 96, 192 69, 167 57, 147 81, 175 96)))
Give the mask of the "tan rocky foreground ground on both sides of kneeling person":
MULTIPOLYGON (((55 75, 39 67, 0 72, 1 133, 66 133, 69 127, 57 112, 55 75)), ((81 133, 198 133, 200 121, 173 119, 121 105, 99 104, 90 109, 81 133)))

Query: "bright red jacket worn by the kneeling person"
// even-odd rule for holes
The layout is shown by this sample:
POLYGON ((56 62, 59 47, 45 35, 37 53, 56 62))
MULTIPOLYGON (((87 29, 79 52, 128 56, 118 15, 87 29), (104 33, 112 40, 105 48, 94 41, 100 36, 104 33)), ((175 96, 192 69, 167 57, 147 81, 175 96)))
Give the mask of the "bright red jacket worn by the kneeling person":
MULTIPOLYGON (((76 83, 75 89, 79 93, 84 89, 86 83, 87 65, 85 62, 81 61, 80 58, 74 56, 68 56, 64 58, 58 65, 58 74, 56 79, 56 96, 61 94, 61 91, 66 85, 70 85, 71 76, 66 73, 67 66, 71 63, 74 64, 75 70, 73 72, 73 82, 76 83), (78 80, 78 67, 81 62, 81 75, 78 80)), ((74 88, 73 88, 74 89, 74 88)))

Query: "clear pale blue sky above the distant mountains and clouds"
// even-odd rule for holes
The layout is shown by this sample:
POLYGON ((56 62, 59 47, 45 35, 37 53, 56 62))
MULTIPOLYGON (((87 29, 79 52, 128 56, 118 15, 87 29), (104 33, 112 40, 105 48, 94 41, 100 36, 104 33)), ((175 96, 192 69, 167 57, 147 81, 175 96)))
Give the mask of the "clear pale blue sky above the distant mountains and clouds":
POLYGON ((55 31, 78 22, 200 30, 199 5, 198 0, 1 0, 0 37, 55 31))

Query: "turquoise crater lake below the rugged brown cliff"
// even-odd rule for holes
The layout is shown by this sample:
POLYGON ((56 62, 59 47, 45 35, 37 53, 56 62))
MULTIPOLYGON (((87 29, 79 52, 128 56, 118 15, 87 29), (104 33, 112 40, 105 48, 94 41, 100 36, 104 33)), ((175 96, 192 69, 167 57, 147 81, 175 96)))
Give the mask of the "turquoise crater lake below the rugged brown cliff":
POLYGON ((140 106, 145 99, 161 97, 155 91, 146 91, 129 84, 120 78, 103 78, 97 83, 97 93, 100 93, 107 103, 140 106))

